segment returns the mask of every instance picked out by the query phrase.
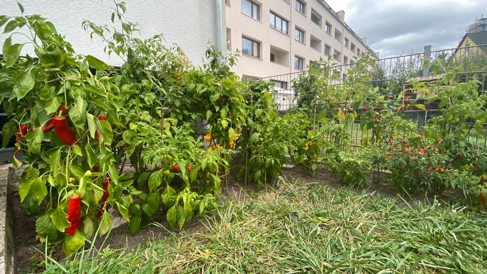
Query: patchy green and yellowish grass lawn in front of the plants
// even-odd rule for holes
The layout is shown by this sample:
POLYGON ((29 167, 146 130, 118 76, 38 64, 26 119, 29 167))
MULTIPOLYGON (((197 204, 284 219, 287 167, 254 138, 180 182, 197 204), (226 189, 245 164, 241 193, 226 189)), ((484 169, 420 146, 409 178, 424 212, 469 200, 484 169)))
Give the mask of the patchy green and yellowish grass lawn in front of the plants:
POLYGON ((119 273, 487 271, 487 214, 399 202, 282 179, 246 200, 223 198, 202 232, 169 233, 136 251, 106 250, 95 257, 96 269, 80 268, 79 258, 61 265, 76 269, 70 273, 113 273, 115 266, 119 273))

